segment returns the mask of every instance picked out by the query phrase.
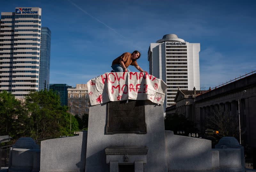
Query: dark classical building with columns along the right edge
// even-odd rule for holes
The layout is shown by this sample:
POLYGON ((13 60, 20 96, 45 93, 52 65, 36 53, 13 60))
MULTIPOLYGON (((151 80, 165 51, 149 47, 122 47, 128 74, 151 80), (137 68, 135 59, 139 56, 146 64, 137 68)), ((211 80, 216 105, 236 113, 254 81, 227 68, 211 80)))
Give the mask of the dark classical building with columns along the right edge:
POLYGON ((185 114, 188 119, 198 124, 200 130, 204 129, 206 115, 216 108, 238 118, 240 107, 242 141, 256 148, 255 73, 212 90, 178 90, 174 101, 176 104, 167 107, 166 114, 174 112, 185 114), (238 100, 240 100, 239 106, 238 100))

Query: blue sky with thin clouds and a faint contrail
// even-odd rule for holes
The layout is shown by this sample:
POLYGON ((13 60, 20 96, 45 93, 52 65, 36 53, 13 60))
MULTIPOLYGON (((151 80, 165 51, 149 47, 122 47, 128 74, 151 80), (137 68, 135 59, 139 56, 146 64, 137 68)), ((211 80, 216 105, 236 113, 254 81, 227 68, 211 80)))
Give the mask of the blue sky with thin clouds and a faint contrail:
POLYGON ((0 12, 15 7, 42 8, 42 26, 52 31, 50 83, 86 83, 133 50, 148 71, 149 44, 170 33, 201 44, 207 89, 256 70, 256 1, 12 0, 0 12))

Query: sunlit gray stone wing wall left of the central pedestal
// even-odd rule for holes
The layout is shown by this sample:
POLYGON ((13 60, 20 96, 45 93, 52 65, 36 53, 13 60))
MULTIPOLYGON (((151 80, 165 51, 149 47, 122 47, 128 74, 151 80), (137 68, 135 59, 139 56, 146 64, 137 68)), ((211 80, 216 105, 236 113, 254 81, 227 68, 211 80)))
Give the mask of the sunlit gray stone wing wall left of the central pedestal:
POLYGON ((84 171, 87 132, 41 142, 40 171, 84 171))

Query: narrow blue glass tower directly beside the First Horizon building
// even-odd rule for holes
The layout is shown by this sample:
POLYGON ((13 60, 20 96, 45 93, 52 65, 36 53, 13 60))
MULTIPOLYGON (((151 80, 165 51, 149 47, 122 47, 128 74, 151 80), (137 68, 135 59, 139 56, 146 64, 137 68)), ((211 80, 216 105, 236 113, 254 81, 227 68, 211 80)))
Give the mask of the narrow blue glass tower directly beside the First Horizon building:
POLYGON ((42 27, 41 31, 39 90, 49 90, 51 31, 48 27, 42 27))

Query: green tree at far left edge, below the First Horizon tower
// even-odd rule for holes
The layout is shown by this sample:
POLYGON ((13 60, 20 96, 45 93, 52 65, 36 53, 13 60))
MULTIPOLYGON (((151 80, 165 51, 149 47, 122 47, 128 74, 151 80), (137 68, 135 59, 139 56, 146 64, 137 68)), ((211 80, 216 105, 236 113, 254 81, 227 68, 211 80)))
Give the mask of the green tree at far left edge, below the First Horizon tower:
POLYGON ((23 102, 7 91, 0 92, 0 118, 0 135, 27 136, 29 118, 23 102))

